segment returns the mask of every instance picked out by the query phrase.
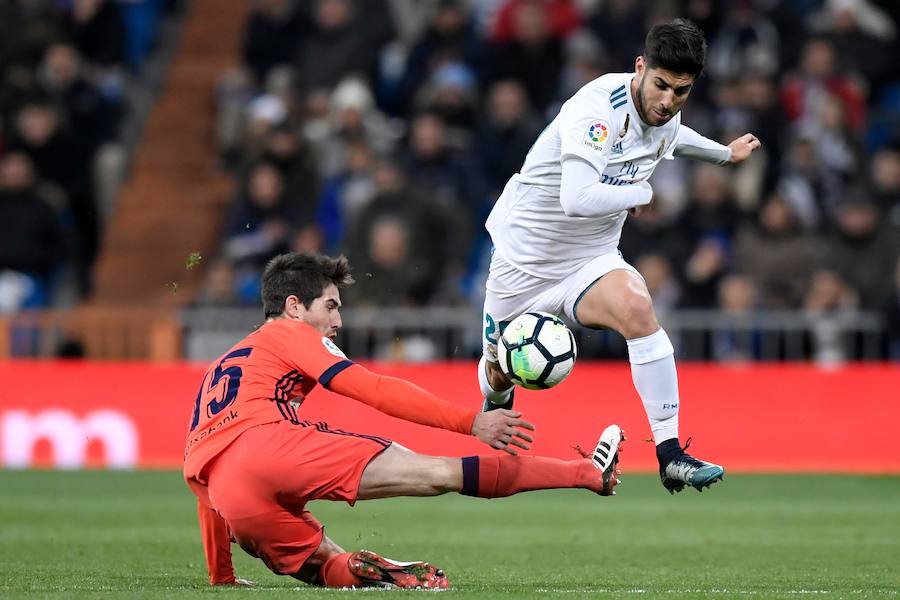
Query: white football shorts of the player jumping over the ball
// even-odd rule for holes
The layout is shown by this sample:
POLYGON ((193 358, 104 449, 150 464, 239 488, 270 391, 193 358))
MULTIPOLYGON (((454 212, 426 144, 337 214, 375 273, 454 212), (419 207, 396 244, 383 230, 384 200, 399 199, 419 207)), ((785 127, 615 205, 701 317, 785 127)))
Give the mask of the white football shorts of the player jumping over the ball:
MULTIPOLYGON (((594 283, 616 269, 631 271, 638 277, 637 269, 625 262, 622 254, 602 254, 586 261, 571 275, 562 279, 541 279, 523 273, 503 260, 496 252, 491 257, 491 268, 485 284, 484 357, 497 362, 497 339, 506 324, 529 311, 565 315, 572 322, 578 301, 594 283)), ((643 279, 643 277, 641 277, 643 279)))

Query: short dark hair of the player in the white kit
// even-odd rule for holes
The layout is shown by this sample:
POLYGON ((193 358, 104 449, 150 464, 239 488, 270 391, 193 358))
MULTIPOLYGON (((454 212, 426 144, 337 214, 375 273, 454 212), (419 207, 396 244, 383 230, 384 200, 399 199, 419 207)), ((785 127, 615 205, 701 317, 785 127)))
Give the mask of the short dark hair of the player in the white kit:
POLYGON ((644 40, 644 60, 651 69, 697 77, 706 62, 706 38, 700 28, 687 19, 660 23, 644 40))

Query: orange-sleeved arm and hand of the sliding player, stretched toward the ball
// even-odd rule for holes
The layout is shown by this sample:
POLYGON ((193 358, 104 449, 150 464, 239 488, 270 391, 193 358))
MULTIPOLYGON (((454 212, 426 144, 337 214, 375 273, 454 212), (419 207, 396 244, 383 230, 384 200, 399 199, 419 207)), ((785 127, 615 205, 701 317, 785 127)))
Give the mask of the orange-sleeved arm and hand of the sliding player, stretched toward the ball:
POLYGON ((527 443, 532 441, 522 429, 533 430, 534 426, 522 421, 520 413, 509 410, 477 413, 441 400, 409 381, 378 375, 357 364, 332 377, 327 387, 392 417, 474 435, 492 448, 510 454, 515 454, 510 446, 527 450, 527 443))

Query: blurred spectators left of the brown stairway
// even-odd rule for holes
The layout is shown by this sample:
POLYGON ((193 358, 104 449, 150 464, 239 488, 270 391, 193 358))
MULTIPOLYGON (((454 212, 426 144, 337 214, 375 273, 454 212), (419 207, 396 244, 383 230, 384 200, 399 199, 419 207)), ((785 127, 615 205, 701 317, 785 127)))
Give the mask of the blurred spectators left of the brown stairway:
POLYGON ((129 93, 175 4, 0 0, 0 314, 90 291, 129 93))

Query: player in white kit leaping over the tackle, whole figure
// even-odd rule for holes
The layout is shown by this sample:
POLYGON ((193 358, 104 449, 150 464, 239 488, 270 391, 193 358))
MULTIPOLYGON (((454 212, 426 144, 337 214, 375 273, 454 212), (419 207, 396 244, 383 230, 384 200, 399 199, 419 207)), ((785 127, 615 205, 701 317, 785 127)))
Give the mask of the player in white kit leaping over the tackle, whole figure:
POLYGON ((478 380, 484 410, 512 407, 497 362, 505 324, 528 311, 610 328, 628 344, 632 379, 670 493, 701 490, 725 470, 678 440, 674 349, 640 273, 618 251, 622 224, 650 203, 647 179, 662 159, 734 165, 759 147, 746 134, 723 146, 681 123, 681 107, 706 57, 703 33, 675 19, 653 27, 634 73, 609 73, 578 90, 544 129, 487 219, 494 252, 484 302, 478 380))

